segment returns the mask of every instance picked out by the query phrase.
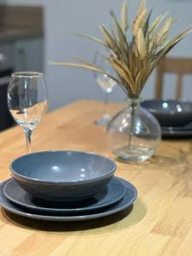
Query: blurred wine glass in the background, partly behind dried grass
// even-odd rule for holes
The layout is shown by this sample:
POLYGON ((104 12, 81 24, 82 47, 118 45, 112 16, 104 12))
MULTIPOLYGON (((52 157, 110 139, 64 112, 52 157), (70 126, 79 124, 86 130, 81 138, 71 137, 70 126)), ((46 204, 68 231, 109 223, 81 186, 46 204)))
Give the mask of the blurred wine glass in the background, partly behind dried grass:
MULTIPOLYGON (((109 70, 108 63, 105 61, 104 56, 106 53, 96 52, 94 57, 94 63, 98 67, 107 70, 109 73, 112 71, 109 70)), ((96 119, 96 125, 108 125, 109 120, 111 119, 110 114, 108 113, 108 95, 113 91, 113 87, 116 85, 116 82, 108 77, 108 74, 104 73, 93 73, 96 79, 96 83, 100 85, 102 90, 105 93, 104 99, 104 114, 101 118, 96 119)))

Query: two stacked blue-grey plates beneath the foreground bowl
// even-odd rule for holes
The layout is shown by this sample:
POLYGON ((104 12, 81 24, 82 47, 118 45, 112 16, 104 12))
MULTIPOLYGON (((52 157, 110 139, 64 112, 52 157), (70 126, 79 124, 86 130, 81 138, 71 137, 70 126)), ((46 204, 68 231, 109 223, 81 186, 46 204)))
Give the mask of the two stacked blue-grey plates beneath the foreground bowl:
POLYGON ((10 178, 0 184, 0 204, 9 212, 46 221, 84 221, 102 218, 130 207, 137 189, 119 177, 113 177, 106 189, 84 201, 44 201, 32 197, 10 178))

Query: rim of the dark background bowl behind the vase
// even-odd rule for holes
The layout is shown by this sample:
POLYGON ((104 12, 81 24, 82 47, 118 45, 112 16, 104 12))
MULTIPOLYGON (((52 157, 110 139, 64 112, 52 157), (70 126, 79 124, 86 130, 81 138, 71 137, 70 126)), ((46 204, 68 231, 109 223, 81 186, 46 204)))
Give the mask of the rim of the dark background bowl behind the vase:
MULTIPOLYGON (((141 104, 145 103, 145 102, 180 102, 180 103, 190 103, 192 105, 192 102, 190 102, 190 101, 179 101, 179 100, 174 100, 174 99, 167 99, 167 100, 166 99, 165 100, 163 100, 163 99, 148 99, 148 100, 144 100, 143 102, 141 102, 141 104)), ((162 113, 162 114, 167 114, 167 115, 174 115, 174 114, 183 115, 184 113, 185 114, 191 113, 191 111, 185 111, 183 113, 183 112, 176 112, 174 110, 172 110, 170 112, 165 112, 163 110, 156 109, 156 108, 147 108, 147 107, 144 107, 143 105, 142 105, 142 107, 145 109, 148 109, 148 111, 151 113, 160 113, 160 114, 162 113)))

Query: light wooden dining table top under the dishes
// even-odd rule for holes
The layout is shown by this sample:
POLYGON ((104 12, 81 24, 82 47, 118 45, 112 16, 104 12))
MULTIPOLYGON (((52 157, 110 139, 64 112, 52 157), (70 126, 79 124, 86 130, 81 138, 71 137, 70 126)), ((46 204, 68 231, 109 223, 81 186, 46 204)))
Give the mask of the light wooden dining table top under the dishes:
MULTIPOLYGON (((112 111, 119 105, 112 104, 112 111)), ((94 125, 100 102, 76 102, 47 114, 32 137, 33 150, 75 149, 104 154, 105 129, 94 125)), ((25 153, 20 127, 0 134, 0 179, 25 153)), ((133 183, 131 211, 82 223, 46 223, 0 211, 0 255, 192 255, 192 141, 163 141, 143 164, 116 161, 116 175, 133 183)))

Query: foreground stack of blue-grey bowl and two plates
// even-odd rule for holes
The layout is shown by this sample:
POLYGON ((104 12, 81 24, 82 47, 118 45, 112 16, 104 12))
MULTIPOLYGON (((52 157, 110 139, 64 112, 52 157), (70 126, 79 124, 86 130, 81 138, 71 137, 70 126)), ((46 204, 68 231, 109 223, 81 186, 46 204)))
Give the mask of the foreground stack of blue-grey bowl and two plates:
POLYGON ((0 204, 9 212, 47 221, 83 221, 120 212, 137 189, 114 177, 116 165, 99 154, 46 151, 26 154, 0 184, 0 204))

